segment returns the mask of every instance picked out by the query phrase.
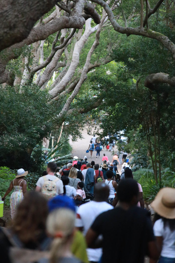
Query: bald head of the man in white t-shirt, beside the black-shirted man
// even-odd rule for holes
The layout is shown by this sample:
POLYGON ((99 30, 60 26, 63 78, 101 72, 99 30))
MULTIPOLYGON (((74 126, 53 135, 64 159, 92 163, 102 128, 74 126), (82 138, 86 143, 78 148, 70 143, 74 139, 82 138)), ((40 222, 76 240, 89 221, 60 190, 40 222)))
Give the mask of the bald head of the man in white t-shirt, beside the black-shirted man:
POLYGON ((94 201, 103 202, 107 201, 109 196, 109 186, 105 183, 98 183, 94 186, 94 201))

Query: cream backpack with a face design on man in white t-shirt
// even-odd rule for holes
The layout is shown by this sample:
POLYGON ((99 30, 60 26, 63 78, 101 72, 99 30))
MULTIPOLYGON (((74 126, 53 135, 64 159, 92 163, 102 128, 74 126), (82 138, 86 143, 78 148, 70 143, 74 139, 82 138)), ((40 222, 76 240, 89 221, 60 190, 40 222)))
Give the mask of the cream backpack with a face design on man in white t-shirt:
POLYGON ((55 178, 54 180, 47 179, 47 175, 43 176, 44 184, 41 188, 41 193, 45 196, 46 199, 50 199, 56 196, 56 182, 59 178, 55 178))

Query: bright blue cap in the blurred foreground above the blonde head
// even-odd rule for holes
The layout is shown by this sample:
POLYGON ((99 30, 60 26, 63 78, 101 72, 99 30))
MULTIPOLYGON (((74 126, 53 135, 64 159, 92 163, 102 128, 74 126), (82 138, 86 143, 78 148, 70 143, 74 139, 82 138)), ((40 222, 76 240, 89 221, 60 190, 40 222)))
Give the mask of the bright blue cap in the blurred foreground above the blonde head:
POLYGON ((72 210, 73 212, 76 211, 75 209, 75 203, 73 199, 69 198, 66 195, 57 195, 51 200, 48 201, 49 206, 49 212, 51 212, 54 209, 58 208, 68 208, 72 210))

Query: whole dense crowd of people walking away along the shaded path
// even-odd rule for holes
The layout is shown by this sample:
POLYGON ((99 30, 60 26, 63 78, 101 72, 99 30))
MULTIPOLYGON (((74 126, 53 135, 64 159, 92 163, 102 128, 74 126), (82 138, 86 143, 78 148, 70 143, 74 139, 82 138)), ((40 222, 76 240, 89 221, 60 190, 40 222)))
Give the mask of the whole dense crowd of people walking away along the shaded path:
POLYGON ((12 224, 0 229, 2 262, 142 263, 147 255, 175 263, 175 189, 158 192, 152 222, 129 163, 120 176, 118 156, 103 157, 99 165, 74 156, 61 169, 50 162, 35 191, 27 191, 28 172, 17 171, 3 196, 13 190, 12 224))

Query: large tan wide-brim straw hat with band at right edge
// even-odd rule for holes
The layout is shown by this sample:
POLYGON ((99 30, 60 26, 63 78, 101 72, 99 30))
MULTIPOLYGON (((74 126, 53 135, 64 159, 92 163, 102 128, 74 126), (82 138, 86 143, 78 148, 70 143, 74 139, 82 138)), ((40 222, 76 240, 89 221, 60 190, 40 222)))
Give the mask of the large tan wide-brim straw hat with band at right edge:
POLYGON ((151 203, 154 211, 168 219, 175 219, 175 188, 162 188, 151 203))

